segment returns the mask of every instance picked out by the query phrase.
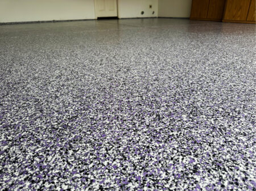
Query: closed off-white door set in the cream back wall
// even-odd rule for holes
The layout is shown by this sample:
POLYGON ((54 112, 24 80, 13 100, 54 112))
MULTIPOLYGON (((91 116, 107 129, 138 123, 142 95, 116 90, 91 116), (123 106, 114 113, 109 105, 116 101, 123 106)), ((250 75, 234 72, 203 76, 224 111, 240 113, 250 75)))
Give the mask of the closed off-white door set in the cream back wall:
POLYGON ((117 16, 117 0, 94 0, 96 18, 117 16))

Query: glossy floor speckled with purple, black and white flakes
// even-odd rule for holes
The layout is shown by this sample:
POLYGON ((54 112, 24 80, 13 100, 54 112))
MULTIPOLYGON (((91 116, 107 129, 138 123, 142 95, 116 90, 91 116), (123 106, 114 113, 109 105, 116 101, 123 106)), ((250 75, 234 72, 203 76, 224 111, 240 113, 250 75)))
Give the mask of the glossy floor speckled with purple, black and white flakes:
POLYGON ((255 25, 0 26, 0 190, 255 190, 255 25))

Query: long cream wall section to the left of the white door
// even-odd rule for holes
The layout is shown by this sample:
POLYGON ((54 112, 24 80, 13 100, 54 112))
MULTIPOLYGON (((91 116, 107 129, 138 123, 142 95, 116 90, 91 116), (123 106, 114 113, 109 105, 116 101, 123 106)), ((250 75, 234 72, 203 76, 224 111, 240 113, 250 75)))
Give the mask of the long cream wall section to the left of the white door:
POLYGON ((94 0, 0 0, 0 23, 95 19, 94 0))

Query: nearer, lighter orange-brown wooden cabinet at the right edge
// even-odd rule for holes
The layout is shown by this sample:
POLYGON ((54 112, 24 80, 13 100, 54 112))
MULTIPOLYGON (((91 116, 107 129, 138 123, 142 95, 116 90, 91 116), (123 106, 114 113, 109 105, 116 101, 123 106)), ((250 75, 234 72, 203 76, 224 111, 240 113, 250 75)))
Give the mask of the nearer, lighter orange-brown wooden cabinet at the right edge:
POLYGON ((222 21, 255 23, 255 0, 226 0, 222 21))

